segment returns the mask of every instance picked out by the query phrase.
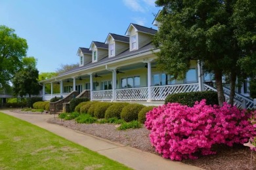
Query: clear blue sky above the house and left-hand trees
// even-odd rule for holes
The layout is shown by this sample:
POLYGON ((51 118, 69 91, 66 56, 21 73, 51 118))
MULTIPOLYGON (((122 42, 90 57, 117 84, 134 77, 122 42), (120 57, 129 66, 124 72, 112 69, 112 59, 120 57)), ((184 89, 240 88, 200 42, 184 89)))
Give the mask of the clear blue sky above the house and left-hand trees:
POLYGON ((27 40, 40 73, 54 72, 78 63, 79 47, 104 42, 108 33, 125 35, 130 23, 156 29, 158 10, 154 0, 0 0, 0 25, 27 40))

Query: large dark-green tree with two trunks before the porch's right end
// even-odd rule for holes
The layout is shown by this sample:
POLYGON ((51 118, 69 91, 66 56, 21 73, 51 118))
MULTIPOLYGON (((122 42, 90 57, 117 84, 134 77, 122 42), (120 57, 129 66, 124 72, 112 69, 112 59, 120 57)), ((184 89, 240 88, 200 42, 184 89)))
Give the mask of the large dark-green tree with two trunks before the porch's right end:
POLYGON ((230 79, 232 102, 236 77, 242 76, 238 60, 244 57, 245 47, 248 48, 240 46, 239 37, 244 33, 240 31, 238 36, 236 31, 240 23, 235 22, 243 18, 242 12, 237 11, 245 1, 253 5, 247 9, 253 13, 254 0, 156 1, 156 5, 163 7, 157 18, 160 30, 154 38, 154 44, 160 48, 157 54, 160 69, 173 78, 182 79, 190 67, 190 60, 203 61, 204 71, 215 75, 219 105, 225 100, 223 74, 230 79))

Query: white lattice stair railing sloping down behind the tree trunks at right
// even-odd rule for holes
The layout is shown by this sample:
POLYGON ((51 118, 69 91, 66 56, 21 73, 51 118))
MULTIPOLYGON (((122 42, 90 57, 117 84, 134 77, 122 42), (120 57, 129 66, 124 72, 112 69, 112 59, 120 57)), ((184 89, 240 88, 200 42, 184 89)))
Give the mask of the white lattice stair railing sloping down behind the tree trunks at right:
MULTIPOLYGON (((217 92, 216 88, 213 88, 212 86, 209 86, 207 84, 203 84, 205 91, 208 90, 213 90, 215 92, 217 92)), ((229 94, 230 94, 230 89, 223 87, 223 91, 224 91, 224 97, 225 100, 228 102, 229 101, 229 94)), ((249 99, 248 97, 245 97, 244 95, 241 95, 239 93, 235 93, 234 95, 234 105, 236 105, 236 107, 242 108, 242 102, 245 101, 245 105, 247 107, 247 109, 253 109, 253 99, 249 99)))

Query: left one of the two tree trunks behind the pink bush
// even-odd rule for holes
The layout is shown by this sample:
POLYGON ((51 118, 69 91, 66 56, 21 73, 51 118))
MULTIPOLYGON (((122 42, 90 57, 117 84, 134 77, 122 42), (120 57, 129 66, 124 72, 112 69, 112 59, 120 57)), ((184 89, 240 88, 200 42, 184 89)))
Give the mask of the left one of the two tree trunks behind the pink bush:
POLYGON ((217 88, 217 94, 218 94, 218 100, 219 100, 219 106, 223 106, 223 102, 225 101, 224 92, 223 92, 223 82, 222 82, 222 71, 215 70, 215 83, 217 88))

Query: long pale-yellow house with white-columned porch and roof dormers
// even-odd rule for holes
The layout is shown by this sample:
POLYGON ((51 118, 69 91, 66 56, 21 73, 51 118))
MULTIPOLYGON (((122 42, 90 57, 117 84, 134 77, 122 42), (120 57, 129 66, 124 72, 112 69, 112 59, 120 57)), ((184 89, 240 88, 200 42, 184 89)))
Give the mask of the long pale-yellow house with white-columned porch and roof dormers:
MULTIPOLYGON (((92 101, 137 101, 158 105, 170 93, 215 90, 205 84, 213 79, 211 75, 203 75, 199 61, 191 61, 184 80, 170 80, 171 75, 158 71, 155 53, 159 49, 152 44, 156 33, 156 29, 130 24, 125 35, 109 33, 105 42, 92 41, 88 48, 78 48, 79 67, 40 82, 43 100, 66 97, 72 91, 90 90, 92 101), (56 83, 60 84, 60 93, 52 90, 51 94, 46 94, 45 84, 53 87, 56 83)), ((244 95, 238 97, 240 105, 247 99, 244 95)))

